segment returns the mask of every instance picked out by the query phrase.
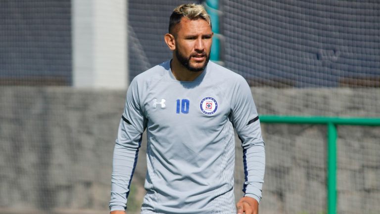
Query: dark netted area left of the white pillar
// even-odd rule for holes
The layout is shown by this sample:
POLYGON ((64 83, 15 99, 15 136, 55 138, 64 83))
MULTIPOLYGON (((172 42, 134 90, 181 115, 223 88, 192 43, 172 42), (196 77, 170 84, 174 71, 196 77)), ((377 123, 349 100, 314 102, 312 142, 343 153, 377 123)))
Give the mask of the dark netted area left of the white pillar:
POLYGON ((0 1, 0 85, 71 85, 71 1, 0 1))

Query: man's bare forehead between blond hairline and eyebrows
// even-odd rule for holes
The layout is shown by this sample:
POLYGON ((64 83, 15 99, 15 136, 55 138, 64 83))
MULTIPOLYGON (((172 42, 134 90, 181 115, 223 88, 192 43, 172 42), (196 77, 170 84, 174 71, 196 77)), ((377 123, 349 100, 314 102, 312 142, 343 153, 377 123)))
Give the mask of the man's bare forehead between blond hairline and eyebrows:
POLYGON ((211 26, 206 20, 201 18, 190 20, 186 17, 182 17, 177 29, 177 34, 179 35, 198 35, 211 33, 211 26))

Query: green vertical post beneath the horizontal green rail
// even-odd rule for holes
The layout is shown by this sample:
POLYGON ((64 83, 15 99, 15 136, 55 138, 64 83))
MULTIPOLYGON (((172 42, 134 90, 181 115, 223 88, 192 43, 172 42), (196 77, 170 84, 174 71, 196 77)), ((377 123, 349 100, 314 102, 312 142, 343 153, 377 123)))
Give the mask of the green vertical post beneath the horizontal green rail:
POLYGON ((328 214, 336 214, 336 126, 328 123, 328 214))

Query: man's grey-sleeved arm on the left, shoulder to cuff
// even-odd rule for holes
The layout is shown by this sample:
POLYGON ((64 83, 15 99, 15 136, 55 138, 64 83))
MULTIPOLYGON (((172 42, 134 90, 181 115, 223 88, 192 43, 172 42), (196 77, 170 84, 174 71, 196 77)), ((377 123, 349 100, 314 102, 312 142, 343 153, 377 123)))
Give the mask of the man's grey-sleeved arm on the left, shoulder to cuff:
POLYGON ((127 91, 124 113, 119 123, 113 151, 111 200, 109 202, 111 212, 119 211, 117 213, 124 214, 146 122, 140 107, 137 81, 134 80, 127 91))

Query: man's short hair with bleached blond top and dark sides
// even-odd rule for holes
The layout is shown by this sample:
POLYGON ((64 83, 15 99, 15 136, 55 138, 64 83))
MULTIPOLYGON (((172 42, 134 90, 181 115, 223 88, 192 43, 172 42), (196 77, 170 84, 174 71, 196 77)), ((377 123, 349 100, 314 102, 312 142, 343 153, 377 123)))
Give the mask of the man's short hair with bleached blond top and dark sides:
POLYGON ((182 17, 190 20, 203 19, 211 27, 210 15, 201 4, 181 4, 173 10, 169 19, 169 34, 173 34, 174 27, 181 22, 182 17))

